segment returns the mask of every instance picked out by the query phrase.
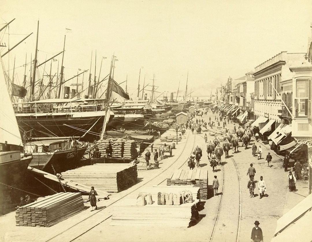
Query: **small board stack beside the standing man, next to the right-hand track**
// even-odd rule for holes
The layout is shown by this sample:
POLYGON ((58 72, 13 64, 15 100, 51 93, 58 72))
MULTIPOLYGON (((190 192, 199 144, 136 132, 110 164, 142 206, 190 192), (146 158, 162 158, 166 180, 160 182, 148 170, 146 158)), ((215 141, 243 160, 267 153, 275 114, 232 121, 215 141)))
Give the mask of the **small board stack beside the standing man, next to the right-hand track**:
POLYGON ((208 170, 176 170, 167 178, 167 186, 183 185, 199 187, 199 198, 208 199, 208 170))

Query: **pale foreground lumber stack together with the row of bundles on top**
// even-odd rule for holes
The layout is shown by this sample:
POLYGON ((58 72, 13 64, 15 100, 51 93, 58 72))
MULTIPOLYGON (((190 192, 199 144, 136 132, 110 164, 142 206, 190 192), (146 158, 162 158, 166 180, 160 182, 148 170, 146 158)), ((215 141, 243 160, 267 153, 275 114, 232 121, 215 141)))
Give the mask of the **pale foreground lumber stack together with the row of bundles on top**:
POLYGON ((113 206, 110 225, 188 228, 199 216, 198 190, 193 186, 142 188, 135 193, 137 197, 113 206))

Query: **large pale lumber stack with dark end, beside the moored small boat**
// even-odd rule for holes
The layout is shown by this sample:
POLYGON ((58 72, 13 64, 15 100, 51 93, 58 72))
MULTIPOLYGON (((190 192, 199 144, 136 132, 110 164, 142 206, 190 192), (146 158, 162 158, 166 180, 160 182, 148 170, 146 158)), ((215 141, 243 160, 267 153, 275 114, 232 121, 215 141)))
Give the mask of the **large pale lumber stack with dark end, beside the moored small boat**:
POLYGON ((62 172, 70 181, 93 186, 106 192, 119 192, 136 183, 137 166, 133 164, 94 164, 62 172))

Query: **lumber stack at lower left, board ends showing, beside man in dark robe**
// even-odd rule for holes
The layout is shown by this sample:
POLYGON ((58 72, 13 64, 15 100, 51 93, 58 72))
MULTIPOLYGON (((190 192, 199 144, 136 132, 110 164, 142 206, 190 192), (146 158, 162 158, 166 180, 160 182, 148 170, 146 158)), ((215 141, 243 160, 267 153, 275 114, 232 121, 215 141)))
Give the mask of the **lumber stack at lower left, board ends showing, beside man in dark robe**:
POLYGON ((80 192, 60 192, 17 209, 16 225, 50 227, 84 209, 80 192))

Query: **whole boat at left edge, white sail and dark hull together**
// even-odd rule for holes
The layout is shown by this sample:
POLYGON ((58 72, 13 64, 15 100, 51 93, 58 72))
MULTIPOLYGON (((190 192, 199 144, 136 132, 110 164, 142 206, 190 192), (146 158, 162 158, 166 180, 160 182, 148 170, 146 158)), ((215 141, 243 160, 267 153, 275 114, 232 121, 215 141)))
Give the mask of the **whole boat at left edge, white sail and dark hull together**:
MULTIPOLYGON (((1 56, 1 55, 0 55, 1 56)), ((25 195, 24 173, 32 156, 21 156, 22 138, 8 92, 0 57, 0 214, 12 211, 25 195)))

